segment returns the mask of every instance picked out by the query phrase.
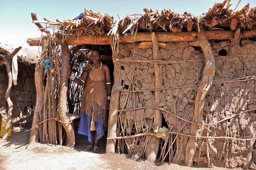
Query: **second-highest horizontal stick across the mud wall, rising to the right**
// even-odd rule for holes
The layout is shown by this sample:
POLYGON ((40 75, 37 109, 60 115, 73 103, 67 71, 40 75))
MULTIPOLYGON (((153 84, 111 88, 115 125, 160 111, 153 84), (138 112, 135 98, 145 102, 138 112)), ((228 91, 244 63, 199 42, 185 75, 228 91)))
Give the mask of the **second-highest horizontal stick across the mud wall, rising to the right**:
MULTIPOLYGON (((250 81, 250 80, 255 80, 256 76, 245 76, 241 78, 236 78, 232 81, 222 81, 222 82, 216 82, 212 83, 212 85, 216 84, 223 84, 223 83, 230 83, 230 82, 242 82, 242 81, 250 81), (240 79, 245 79, 245 80, 240 80, 240 79)), ((199 85, 190 85, 190 86, 180 86, 180 87, 174 87, 174 88, 163 88, 163 89, 150 89, 150 90, 119 90, 116 89, 117 91, 122 91, 122 92, 145 92, 145 91, 156 91, 156 90, 173 90, 173 89, 182 89, 182 88, 188 88, 188 87, 198 87, 199 85)))

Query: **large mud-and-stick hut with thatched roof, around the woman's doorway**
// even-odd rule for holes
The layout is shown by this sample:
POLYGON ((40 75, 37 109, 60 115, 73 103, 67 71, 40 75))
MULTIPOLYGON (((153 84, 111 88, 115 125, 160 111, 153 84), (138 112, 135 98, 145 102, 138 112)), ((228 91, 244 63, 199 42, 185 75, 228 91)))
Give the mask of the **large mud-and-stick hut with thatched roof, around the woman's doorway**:
POLYGON ((224 1, 199 16, 144 11, 120 20, 87 9, 76 20, 38 21, 32 14, 45 35, 28 39, 42 46, 30 142, 61 144, 57 120, 66 145, 74 146, 67 112, 79 114, 83 87, 67 78, 68 65, 79 77, 97 47, 114 64, 106 152, 256 169, 256 8, 234 11, 224 1))

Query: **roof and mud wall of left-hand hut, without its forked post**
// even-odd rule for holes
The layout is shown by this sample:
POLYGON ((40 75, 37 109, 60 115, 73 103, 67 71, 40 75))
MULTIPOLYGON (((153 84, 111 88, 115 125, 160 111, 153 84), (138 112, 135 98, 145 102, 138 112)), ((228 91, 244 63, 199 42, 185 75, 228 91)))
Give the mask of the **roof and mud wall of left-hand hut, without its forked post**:
MULTIPOLYGON (((0 55, 7 59, 13 50, 14 49, 12 49, 12 45, 2 45, 0 46, 0 55)), ((37 57, 40 55, 36 50, 30 50, 26 48, 23 48, 22 52, 22 54, 26 54, 26 56, 22 56, 23 59, 20 59, 18 55, 17 85, 10 86, 9 94, 10 100, 13 104, 11 115, 11 122, 13 127, 22 127, 25 125, 25 123, 32 123, 34 107, 36 105, 36 87, 34 74, 37 57)), ((8 58, 8 60, 11 63, 12 59, 8 58)), ((4 62, 4 59, 0 60, 0 123, 2 121, 7 121, 7 112, 9 109, 6 100, 6 89, 9 87, 9 77, 7 73, 8 69, 6 69, 4 62)))

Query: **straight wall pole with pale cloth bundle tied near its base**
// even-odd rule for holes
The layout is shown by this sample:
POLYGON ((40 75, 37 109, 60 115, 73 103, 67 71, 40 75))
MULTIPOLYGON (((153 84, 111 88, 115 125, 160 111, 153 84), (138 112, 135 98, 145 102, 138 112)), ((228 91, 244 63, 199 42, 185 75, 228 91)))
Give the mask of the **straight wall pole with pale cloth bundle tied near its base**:
MULTIPOLYGON (((158 60, 159 44, 158 44, 158 40, 156 37, 156 33, 152 32, 151 37, 152 37, 152 43, 153 43, 153 48, 152 48, 153 60, 158 60)), ((161 87, 161 83, 160 83, 161 77, 160 77, 160 70, 159 70, 158 64, 154 64, 154 71, 155 71, 155 86, 156 86, 156 89, 158 89, 161 87)), ((156 107, 160 103, 160 98, 159 98, 160 93, 161 93, 160 90, 157 90, 154 92, 156 107)), ((162 113, 160 112, 159 109, 155 109, 154 124, 155 124, 155 126, 154 126, 155 129, 159 129, 162 126, 162 113)), ((145 152, 146 159, 148 159, 150 161, 156 160, 159 143, 160 143, 160 138, 157 138, 156 136, 152 136, 151 141, 149 142, 148 146, 146 147, 146 152, 145 152)))

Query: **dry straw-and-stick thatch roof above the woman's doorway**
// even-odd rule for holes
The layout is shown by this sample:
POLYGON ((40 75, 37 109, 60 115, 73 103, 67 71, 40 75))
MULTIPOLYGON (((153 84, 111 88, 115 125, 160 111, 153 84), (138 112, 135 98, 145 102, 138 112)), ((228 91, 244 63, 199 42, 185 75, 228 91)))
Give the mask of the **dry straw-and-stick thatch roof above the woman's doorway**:
POLYGON ((196 30, 199 25, 205 29, 234 30, 240 26, 242 30, 252 30, 256 28, 256 7, 249 8, 245 5, 241 10, 234 11, 229 9, 231 0, 225 0, 223 3, 215 3, 207 13, 195 16, 189 12, 179 14, 174 11, 158 10, 153 11, 147 8, 143 9, 145 14, 132 14, 116 20, 115 17, 108 14, 102 15, 85 9, 85 15, 77 20, 50 20, 35 21, 35 23, 45 23, 46 28, 54 27, 58 33, 66 35, 87 36, 113 35, 136 32, 181 32, 196 30), (226 7, 225 7, 226 6, 226 7), (235 28, 230 28, 235 24, 235 28))

